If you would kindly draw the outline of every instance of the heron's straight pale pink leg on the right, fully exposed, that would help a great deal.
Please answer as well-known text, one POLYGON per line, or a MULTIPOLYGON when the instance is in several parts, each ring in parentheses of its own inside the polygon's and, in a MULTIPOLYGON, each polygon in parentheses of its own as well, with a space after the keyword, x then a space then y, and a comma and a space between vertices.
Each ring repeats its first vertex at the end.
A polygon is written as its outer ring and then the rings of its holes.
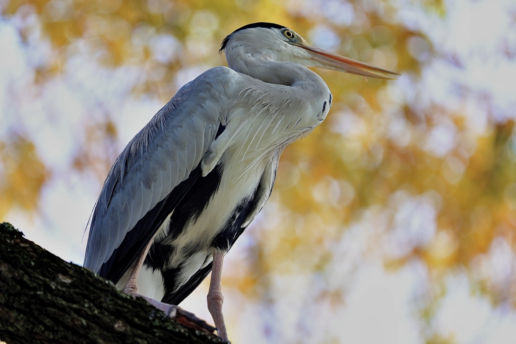
POLYGON ((225 329, 224 316, 222 315, 222 302, 224 296, 220 289, 220 280, 222 277, 222 261, 224 260, 224 254, 220 251, 213 253, 212 263, 212 280, 209 282, 208 291, 208 310, 212 314, 215 327, 217 327, 217 333, 219 337, 228 341, 228 333, 225 329))

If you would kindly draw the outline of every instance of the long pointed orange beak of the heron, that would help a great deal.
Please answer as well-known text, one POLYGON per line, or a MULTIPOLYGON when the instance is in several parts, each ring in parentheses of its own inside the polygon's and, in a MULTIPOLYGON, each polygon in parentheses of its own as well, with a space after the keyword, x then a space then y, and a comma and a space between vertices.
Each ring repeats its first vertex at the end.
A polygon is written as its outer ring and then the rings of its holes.
POLYGON ((316 48, 304 40, 299 43, 291 44, 299 46, 308 51, 311 59, 316 62, 313 64, 313 67, 321 67, 339 72, 387 80, 396 80, 397 76, 400 75, 399 73, 391 72, 389 70, 376 67, 372 64, 360 62, 316 48))

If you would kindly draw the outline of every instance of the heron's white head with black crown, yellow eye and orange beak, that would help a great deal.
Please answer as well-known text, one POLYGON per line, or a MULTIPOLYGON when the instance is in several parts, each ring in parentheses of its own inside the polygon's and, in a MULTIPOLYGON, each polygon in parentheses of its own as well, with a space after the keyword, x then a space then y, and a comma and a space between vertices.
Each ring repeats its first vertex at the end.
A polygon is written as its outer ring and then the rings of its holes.
POLYGON ((312 46, 294 30, 273 23, 253 23, 236 29, 222 41, 222 51, 228 63, 250 54, 380 79, 394 80, 399 75, 312 46))

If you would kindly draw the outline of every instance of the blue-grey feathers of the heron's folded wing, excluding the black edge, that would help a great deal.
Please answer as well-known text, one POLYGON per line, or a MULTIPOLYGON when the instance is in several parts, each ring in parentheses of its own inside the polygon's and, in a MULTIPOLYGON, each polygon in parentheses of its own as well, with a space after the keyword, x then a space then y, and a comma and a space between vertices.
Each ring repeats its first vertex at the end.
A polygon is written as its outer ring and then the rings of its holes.
POLYGON ((127 144, 95 204, 84 266, 99 272, 125 235, 199 165, 224 119, 234 73, 214 68, 183 86, 127 144))

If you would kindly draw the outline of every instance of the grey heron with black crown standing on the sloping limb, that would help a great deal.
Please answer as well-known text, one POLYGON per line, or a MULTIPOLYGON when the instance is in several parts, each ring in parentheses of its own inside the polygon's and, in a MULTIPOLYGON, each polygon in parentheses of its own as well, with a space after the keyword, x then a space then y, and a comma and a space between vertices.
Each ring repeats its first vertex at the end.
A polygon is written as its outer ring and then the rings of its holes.
POLYGON ((84 266, 160 309, 212 271, 208 309, 227 340, 223 256, 267 202, 283 150, 324 121, 332 94, 307 67, 395 79, 397 73, 254 23, 221 45, 229 68, 183 86, 111 167, 89 223, 84 266))

